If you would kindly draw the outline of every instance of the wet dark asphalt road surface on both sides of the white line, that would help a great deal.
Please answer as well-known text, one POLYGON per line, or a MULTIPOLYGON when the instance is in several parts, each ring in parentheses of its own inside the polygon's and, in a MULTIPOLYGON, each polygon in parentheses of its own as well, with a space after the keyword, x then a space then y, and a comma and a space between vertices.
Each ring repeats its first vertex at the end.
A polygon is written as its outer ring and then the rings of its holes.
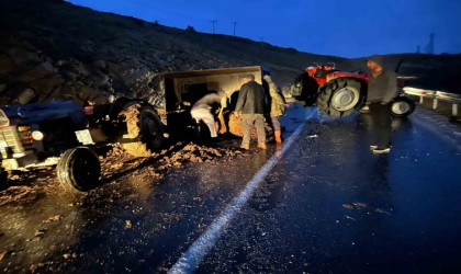
MULTIPOLYGON (((378 156, 367 115, 293 107, 284 138, 303 123, 195 271, 461 272, 459 126, 417 110, 394 122, 392 152, 378 156)), ((3 206, 0 271, 167 272, 274 152, 3 206)))

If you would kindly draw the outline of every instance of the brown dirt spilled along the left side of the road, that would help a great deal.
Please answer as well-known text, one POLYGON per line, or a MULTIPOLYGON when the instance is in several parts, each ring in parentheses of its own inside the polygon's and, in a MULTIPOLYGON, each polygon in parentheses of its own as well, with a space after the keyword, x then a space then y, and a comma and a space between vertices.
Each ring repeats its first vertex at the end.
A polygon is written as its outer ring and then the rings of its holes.
MULTIPOLYGON (((53 167, 10 173, 0 190, 0 269, 54 272, 63 263, 85 258, 85 252, 75 250, 72 244, 86 231, 92 231, 101 218, 120 214, 124 207, 116 205, 131 199, 148 201, 165 176, 188 164, 232 161, 256 152, 240 151, 238 142, 225 140, 217 146, 180 141, 146 158, 132 157, 121 146, 108 147, 97 151, 101 185, 86 193, 63 192, 53 167)), ((150 209, 130 209, 130 215, 122 215, 121 227, 127 230, 138 227, 138 215, 145 210, 150 209)), ((171 224, 179 218, 169 210, 159 215, 171 224)), ((158 226, 150 229, 160 232, 166 229, 158 226)))

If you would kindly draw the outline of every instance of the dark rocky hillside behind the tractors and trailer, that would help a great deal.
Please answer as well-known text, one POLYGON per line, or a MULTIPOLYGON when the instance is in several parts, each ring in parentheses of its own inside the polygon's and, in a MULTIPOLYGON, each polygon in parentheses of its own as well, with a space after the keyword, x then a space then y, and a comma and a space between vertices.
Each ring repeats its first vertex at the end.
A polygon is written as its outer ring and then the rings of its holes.
MULTIPOLYGON (((310 33, 308 35, 315 35, 310 33)), ((105 101, 155 93, 155 76, 176 70, 262 65, 282 87, 313 62, 363 69, 364 59, 301 53, 227 35, 184 31, 97 12, 60 0, 0 2, 0 105, 57 99, 105 101)), ((461 55, 390 55, 415 85, 459 91, 461 55)))

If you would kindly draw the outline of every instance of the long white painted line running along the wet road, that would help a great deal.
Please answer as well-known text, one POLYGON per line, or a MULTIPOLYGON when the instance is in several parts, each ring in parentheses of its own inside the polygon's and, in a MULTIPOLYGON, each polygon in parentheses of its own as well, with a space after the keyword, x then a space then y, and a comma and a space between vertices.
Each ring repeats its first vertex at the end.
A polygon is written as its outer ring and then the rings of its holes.
MULTIPOLYGON (((310 113, 306 119, 310 119, 314 113, 310 113)), ((247 183, 240 194, 235 197, 231 204, 226 206, 224 212, 212 222, 206 231, 196 239, 185 253, 175 263, 168 273, 193 273, 203 258, 210 252, 217 240, 221 238, 224 228, 231 220, 240 212, 248 199, 251 197, 254 191, 259 186, 266 175, 272 170, 277 162, 290 149, 297 136, 304 129, 306 123, 300 125, 296 130, 285 140, 282 149, 273 155, 256 175, 247 183)))

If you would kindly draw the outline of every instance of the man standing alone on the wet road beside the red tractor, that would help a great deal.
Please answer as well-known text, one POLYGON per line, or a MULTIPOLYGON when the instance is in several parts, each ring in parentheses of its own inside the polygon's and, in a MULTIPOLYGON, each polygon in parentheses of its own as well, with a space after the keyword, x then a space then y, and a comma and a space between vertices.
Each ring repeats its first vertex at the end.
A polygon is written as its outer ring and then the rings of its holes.
POLYGON ((367 59, 370 69, 367 102, 372 118, 375 144, 370 146, 374 153, 391 151, 391 101, 397 93, 397 76, 394 71, 383 68, 382 59, 373 55, 367 59))

